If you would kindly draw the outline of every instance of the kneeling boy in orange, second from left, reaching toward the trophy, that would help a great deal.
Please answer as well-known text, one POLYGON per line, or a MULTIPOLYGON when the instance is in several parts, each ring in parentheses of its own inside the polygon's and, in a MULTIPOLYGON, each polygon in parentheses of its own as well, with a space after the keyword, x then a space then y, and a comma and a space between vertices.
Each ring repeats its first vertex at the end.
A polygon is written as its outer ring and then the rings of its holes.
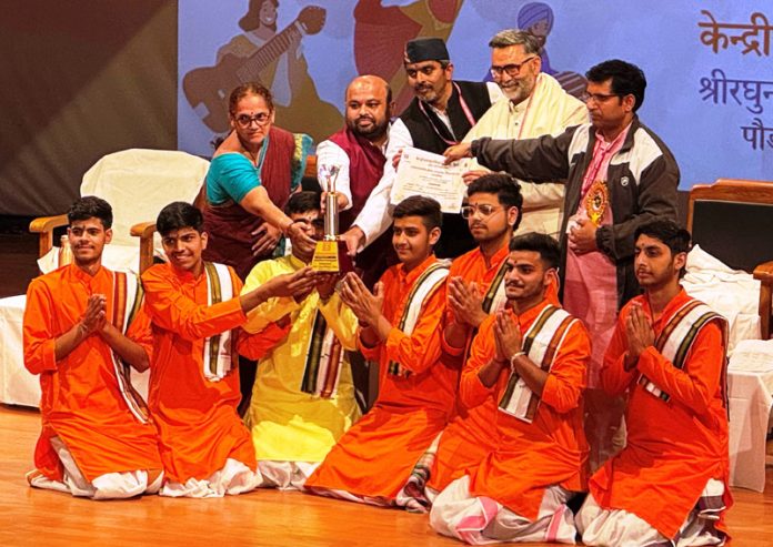
MULTIPOLYGON (((172 497, 219 497, 261 484, 250 432, 237 413, 238 327, 260 303, 313 283, 307 267, 239 296, 234 271, 201 259, 202 224, 192 205, 167 205, 157 227, 169 264, 142 275, 154 335, 149 405, 167 472, 161 495, 172 497)), ((241 344, 250 342, 261 344, 258 337, 241 344)))

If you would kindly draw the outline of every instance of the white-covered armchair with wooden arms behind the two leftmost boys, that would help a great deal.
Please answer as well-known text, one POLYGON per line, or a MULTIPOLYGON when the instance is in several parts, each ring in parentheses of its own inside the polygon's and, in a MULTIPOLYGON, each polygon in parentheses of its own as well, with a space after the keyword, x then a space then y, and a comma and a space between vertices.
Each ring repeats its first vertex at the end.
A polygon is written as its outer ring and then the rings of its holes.
MULTIPOLYGON (((160 255, 160 245, 153 243, 155 223, 141 221, 155 219, 170 202, 192 203, 208 169, 207 160, 184 152, 139 149, 108 154, 89 169, 83 175, 81 195, 98 195, 113 207, 113 239, 104 247, 102 263, 111 270, 134 273, 149 267, 153 255, 160 255), (132 234, 140 237, 139 245, 132 234)), ((30 224, 30 231, 39 234, 38 264, 43 273, 58 267, 53 230, 64 225, 64 214, 39 217, 30 224)), ((24 295, 0 300, 0 403, 38 406, 38 378, 23 366, 24 303, 24 295)), ((132 375, 143 394, 147 376, 132 375)))

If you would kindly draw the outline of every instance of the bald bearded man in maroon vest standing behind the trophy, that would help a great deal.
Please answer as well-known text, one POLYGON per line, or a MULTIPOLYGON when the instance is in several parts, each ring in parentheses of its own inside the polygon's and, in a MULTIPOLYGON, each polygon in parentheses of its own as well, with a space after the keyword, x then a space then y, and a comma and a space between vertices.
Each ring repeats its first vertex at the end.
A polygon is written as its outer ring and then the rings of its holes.
MULTIPOLYGON (((335 179, 341 232, 352 225, 383 175, 393 107, 392 90, 377 75, 352 80, 345 100, 345 128, 317 146, 317 176, 323 190, 329 178, 335 179)), ((357 256, 362 278, 371 288, 396 262, 391 230, 357 256)))

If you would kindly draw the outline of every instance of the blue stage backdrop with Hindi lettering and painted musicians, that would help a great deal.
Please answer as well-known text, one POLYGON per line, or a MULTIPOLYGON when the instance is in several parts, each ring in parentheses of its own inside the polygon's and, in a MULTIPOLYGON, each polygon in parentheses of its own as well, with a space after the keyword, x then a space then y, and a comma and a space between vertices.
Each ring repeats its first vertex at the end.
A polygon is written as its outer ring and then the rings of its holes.
MULTIPOLYGON (((273 6, 272 0, 265 1, 273 6)), ((260 3, 179 3, 181 150, 209 155, 209 143, 217 133, 202 121, 201 108, 194 110, 188 100, 185 74, 214 65, 218 50, 243 34, 239 20, 260 3)), ((388 79, 393 77, 393 83, 402 82, 404 75, 394 70, 393 61, 404 36, 448 37, 454 78, 481 80, 490 64, 489 39, 501 29, 518 27, 521 13, 522 22, 542 19, 543 28, 550 27, 545 50, 554 71, 582 74, 611 58, 631 61, 644 70, 649 84, 640 117, 674 152, 682 170, 682 189, 720 176, 773 178, 770 1, 552 0, 534 6, 521 0, 281 0, 275 9, 278 31, 290 26, 308 6, 327 11, 321 30, 304 36, 300 49, 284 65, 278 61, 269 69, 280 102, 308 109, 307 123, 312 129, 289 129, 314 133, 315 112, 321 111, 315 101, 334 107, 340 114, 344 88, 358 74, 357 59, 363 67, 382 67, 388 79), (521 13, 526 4, 532 6, 521 13), (302 67, 301 72, 313 81, 318 99, 293 105, 295 88, 289 82, 300 80, 285 72, 292 72, 288 64, 303 58, 308 68, 302 67)), ((283 125, 279 113, 277 123, 283 125)), ((325 135, 314 136, 319 140, 325 135)))

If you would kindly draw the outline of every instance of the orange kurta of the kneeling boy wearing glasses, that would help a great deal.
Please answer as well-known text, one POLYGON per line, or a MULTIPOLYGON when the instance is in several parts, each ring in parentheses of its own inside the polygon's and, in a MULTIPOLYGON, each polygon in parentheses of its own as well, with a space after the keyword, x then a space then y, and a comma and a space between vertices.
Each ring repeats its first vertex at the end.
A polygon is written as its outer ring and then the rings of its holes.
MULTIPOLYGON (((509 251, 505 244, 491 257, 491 265, 486 265, 480 247, 475 247, 453 261, 449 278, 460 276, 466 283, 475 283, 481 294, 485 295, 508 255, 509 251)), ((445 325, 453 321, 454 314, 449 308, 445 312, 445 325)), ((472 338, 472 335, 473 333, 470 333, 469 338, 472 338)), ((469 343, 471 340, 468 340, 465 346, 469 343)), ((458 355, 461 367, 464 355, 460 355, 456 348, 444 342, 443 351, 449 355, 458 355)), ((456 416, 440 437, 438 453, 428 482, 429 487, 442 490, 453 479, 471 473, 489 453, 496 448, 496 429, 492 427, 495 414, 496 404, 493 397, 488 397, 483 403, 472 408, 468 408, 459 398, 456 399, 456 416)))

